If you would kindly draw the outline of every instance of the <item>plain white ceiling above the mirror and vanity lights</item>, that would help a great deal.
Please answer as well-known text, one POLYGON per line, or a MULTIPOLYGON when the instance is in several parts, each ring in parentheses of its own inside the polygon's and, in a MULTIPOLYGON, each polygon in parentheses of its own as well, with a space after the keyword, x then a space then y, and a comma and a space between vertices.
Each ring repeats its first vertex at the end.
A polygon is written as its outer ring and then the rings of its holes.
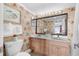
POLYGON ((57 11, 68 7, 75 7, 75 3, 22 3, 25 8, 33 14, 45 13, 47 11, 57 11))

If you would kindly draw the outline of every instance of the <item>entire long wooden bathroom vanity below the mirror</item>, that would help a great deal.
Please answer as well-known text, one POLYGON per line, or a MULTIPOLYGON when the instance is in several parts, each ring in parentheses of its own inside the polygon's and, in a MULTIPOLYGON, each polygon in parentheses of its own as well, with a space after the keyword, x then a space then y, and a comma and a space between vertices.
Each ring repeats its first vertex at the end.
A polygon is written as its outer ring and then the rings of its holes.
POLYGON ((32 53, 47 56, 68 56, 70 55, 69 42, 63 40, 44 39, 30 37, 30 48, 32 53))

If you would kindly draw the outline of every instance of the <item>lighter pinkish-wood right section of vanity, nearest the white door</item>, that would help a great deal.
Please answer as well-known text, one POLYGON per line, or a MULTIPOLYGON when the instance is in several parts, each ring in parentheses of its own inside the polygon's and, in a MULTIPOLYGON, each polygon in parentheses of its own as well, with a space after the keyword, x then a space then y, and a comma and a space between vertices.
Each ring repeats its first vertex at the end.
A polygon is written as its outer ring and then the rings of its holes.
POLYGON ((48 56, 68 56, 70 47, 67 42, 46 40, 45 53, 48 56))

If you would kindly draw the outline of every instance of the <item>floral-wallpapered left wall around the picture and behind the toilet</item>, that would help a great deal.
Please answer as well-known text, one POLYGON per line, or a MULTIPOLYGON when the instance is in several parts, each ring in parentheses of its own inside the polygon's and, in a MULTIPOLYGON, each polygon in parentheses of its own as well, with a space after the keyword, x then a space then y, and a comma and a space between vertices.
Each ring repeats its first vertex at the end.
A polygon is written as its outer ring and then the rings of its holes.
MULTIPOLYGON (((33 15, 30 12, 28 12, 27 10, 25 10, 21 6, 21 4, 5 3, 4 5, 9 6, 13 9, 16 9, 16 10, 20 11, 20 13, 21 13, 21 25, 22 25, 23 34, 21 34, 19 36, 21 36, 22 39, 26 39, 26 41, 28 42, 28 37, 31 34, 31 18, 32 18, 33 15)), ((12 39, 13 39, 13 36, 4 37, 5 41, 10 41, 12 39)))

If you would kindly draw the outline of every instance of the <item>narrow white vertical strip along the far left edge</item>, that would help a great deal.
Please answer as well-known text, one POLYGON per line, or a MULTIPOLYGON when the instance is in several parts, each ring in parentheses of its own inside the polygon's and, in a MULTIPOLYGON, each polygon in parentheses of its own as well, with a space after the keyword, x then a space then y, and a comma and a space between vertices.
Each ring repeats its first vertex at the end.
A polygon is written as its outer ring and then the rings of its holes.
POLYGON ((0 56, 3 55, 3 4, 0 3, 0 56))

